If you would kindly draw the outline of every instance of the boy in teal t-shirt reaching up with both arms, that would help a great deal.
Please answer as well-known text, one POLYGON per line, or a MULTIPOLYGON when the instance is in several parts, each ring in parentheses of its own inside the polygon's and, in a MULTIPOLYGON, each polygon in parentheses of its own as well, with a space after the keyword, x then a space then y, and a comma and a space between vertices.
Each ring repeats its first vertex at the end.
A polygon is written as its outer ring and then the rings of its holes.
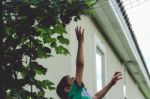
POLYGON ((76 75, 75 78, 69 75, 64 76, 59 82, 56 92, 61 99, 101 99, 118 80, 122 79, 121 72, 115 72, 111 81, 102 90, 91 97, 82 83, 84 69, 84 29, 76 27, 75 32, 78 40, 76 75))

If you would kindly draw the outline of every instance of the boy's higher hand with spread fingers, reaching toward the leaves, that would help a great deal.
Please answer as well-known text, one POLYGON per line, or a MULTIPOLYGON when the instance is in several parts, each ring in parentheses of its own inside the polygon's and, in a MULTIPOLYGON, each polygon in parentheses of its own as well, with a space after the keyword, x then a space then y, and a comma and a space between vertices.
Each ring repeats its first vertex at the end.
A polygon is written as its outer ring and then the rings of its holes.
POLYGON ((84 41, 84 29, 81 29, 81 27, 76 27, 75 28, 76 36, 78 42, 83 42, 84 41))

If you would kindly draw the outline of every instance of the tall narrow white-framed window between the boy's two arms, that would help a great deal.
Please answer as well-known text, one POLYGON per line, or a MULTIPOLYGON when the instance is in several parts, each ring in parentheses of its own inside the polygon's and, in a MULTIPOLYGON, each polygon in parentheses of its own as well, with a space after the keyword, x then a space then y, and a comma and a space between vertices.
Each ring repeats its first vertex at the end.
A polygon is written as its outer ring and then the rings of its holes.
POLYGON ((95 35, 95 40, 95 88, 99 91, 105 83, 105 47, 98 35, 95 35))

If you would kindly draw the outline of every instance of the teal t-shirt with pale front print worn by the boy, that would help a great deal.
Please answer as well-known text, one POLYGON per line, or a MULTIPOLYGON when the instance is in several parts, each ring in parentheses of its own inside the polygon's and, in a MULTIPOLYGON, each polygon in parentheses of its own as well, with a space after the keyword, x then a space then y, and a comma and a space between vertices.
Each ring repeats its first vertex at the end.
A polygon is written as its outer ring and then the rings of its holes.
POLYGON ((84 85, 79 86, 76 81, 74 81, 68 97, 68 99, 92 99, 84 85))

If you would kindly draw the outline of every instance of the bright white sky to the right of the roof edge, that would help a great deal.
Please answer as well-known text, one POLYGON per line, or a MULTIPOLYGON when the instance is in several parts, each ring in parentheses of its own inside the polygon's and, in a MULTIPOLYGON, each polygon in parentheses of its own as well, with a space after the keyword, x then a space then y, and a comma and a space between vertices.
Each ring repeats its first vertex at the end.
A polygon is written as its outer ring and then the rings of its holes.
POLYGON ((150 0, 141 2, 139 5, 133 7, 126 7, 132 29, 150 73, 150 0))

